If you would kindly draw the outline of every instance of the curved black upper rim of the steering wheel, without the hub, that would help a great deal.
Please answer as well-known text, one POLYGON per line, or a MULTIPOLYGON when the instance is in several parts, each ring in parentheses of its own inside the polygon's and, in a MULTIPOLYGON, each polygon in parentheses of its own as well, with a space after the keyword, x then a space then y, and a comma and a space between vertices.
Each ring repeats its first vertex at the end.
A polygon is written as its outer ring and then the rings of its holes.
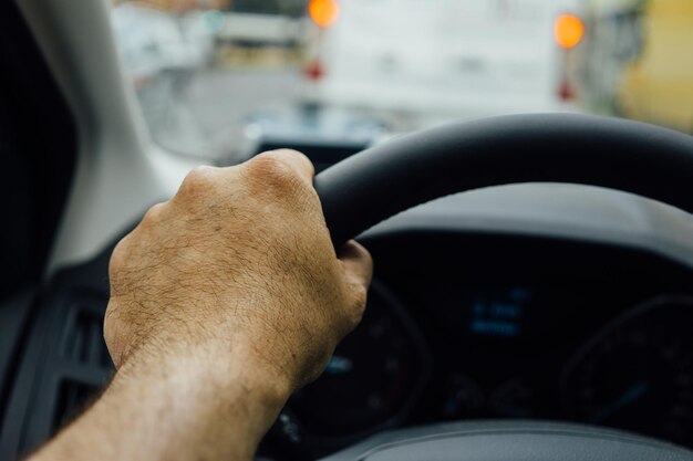
POLYGON ((693 212, 693 136, 619 118, 508 115, 403 136, 316 177, 332 241, 455 192, 519 182, 622 190, 693 212))

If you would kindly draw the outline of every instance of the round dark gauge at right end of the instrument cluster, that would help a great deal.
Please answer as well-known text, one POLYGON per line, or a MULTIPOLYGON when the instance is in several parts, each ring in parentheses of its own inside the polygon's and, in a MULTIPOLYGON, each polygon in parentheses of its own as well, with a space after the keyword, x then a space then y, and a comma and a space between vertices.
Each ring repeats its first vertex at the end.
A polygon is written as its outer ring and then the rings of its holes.
POLYGON ((693 444, 693 301, 660 298, 618 318, 568 365, 568 416, 693 444))

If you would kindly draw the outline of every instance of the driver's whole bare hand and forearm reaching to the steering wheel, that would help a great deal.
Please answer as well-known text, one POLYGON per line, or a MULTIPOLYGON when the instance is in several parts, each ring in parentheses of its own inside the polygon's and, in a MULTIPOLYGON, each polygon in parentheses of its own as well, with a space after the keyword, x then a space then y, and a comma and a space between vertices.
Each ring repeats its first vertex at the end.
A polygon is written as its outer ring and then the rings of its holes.
POLYGON ((301 154, 192 171, 111 259, 118 371, 38 458, 249 459, 360 321, 371 260, 334 252, 301 154))

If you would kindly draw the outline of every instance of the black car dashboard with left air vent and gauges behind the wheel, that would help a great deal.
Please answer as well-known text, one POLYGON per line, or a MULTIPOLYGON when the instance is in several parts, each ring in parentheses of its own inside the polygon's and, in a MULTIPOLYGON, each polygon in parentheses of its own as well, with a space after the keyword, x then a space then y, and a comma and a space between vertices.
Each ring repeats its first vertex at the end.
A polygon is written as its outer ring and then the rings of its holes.
MULTIPOLYGON (((523 207, 550 208, 529 187, 483 192, 485 205, 454 196, 365 232, 375 279, 363 321, 323 376, 289 400, 260 454, 314 459, 385 429, 478 419, 579 421, 693 446, 693 274, 681 240, 658 230, 662 216, 645 219, 643 210, 671 213, 678 224, 664 227, 679 234, 690 220, 633 197, 536 187, 567 217, 561 224, 551 211, 545 233, 507 223, 529 212, 523 207), (511 210, 490 205, 497 193, 511 210), (576 214, 561 193, 599 196, 602 211, 640 208, 631 221, 602 212, 599 226, 631 232, 609 238, 594 227, 598 240, 587 229, 599 220, 576 214), (582 238, 570 234, 576 229, 582 238)), ((2 453, 41 443, 110 379, 102 338, 110 253, 51 281, 17 366, 2 453)))

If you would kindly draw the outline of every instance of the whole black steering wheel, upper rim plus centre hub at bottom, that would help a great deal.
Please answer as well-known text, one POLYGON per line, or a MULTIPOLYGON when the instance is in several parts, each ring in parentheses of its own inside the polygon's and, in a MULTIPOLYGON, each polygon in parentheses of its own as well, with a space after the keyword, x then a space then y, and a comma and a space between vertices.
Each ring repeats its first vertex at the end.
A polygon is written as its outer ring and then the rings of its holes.
MULTIPOLYGON (((517 182, 571 182, 637 193, 693 212, 693 137, 575 114, 452 124, 364 150, 316 177, 337 247, 377 222, 446 195, 517 182)), ((550 422, 467 422, 395 431, 331 461, 693 460, 625 432, 550 422)))

